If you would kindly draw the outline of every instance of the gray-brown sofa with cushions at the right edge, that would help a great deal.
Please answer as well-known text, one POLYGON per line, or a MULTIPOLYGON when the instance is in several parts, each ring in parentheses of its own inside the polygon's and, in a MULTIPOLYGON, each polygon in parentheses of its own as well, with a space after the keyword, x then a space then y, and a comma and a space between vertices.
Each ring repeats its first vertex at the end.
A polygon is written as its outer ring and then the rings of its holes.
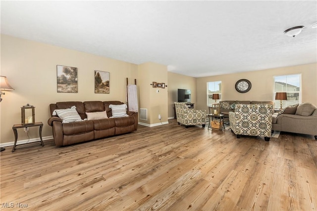
POLYGON ((317 107, 303 103, 272 115, 272 130, 314 135, 317 140, 317 107))

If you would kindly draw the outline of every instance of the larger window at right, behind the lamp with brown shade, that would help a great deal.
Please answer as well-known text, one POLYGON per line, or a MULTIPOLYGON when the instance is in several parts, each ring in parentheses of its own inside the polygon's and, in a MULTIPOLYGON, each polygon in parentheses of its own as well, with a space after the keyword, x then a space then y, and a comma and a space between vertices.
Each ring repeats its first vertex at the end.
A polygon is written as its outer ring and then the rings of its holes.
POLYGON ((283 108, 302 103, 301 74, 274 76, 273 102, 279 108, 280 101, 275 100, 276 92, 286 92, 287 101, 282 101, 283 108))

